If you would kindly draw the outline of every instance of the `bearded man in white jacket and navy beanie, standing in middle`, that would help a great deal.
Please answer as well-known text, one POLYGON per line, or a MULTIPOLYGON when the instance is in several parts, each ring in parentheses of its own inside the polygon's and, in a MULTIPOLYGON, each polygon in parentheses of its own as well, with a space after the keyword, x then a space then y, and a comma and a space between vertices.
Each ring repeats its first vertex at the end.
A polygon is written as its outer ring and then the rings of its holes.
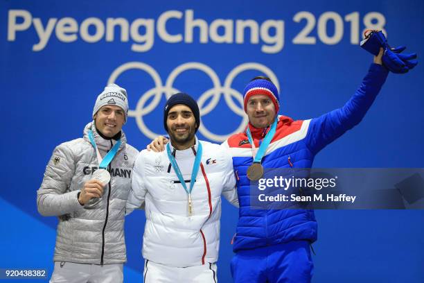
POLYGON ((175 94, 164 109, 166 150, 141 151, 127 214, 145 205, 144 282, 217 282, 221 194, 238 206, 231 156, 199 141, 196 101, 175 94))

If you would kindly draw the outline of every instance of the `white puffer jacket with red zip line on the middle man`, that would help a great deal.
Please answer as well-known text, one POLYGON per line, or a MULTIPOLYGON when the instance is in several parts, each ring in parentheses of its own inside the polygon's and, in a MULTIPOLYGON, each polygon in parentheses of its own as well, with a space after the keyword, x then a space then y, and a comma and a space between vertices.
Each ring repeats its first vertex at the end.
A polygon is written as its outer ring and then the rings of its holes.
MULTIPOLYGON (((202 165, 191 192, 191 216, 188 215, 188 195, 170 166, 167 152, 144 150, 136 159, 127 214, 145 202, 145 259, 177 267, 218 260, 221 194, 238 206, 236 180, 226 149, 207 141, 200 142, 202 165)), ((196 139, 196 151, 197 144, 196 139)), ((173 146, 170 148, 174 150, 173 146)), ((195 160, 192 148, 176 151, 175 160, 189 188, 195 160)))

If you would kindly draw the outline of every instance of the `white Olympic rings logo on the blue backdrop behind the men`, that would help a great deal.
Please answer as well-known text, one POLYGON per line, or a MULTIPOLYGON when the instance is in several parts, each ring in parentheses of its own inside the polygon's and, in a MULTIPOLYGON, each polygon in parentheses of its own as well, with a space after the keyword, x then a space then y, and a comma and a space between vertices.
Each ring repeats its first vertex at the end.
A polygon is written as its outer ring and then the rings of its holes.
MULTIPOLYGON (((136 119, 136 124, 137 126, 139 126, 141 132, 143 132, 143 134, 150 139, 154 139, 159 134, 153 132, 148 128, 148 126, 145 125, 143 121, 143 116, 149 114, 157 108, 157 105, 159 105, 159 102, 161 101, 162 94, 165 94, 166 99, 168 99, 171 95, 180 92, 179 89, 175 89, 173 87, 173 83, 177 76, 179 76, 179 74, 182 74, 184 71, 191 69, 203 71, 209 76, 209 78, 211 78, 211 81, 213 83, 213 87, 211 89, 206 90, 206 92, 204 92, 197 100, 197 104, 199 105, 200 110, 200 117, 209 114, 216 107, 216 105, 218 105, 221 94, 223 94, 225 102, 227 103, 229 109, 242 118, 238 128, 236 128, 236 130, 234 130, 233 132, 230 132, 228 135, 214 134, 206 128, 204 123, 200 123, 200 133, 202 133, 204 137, 212 141, 224 141, 230 135, 242 132, 247 124, 247 115, 245 114, 245 110, 242 108, 243 96, 240 92, 231 87, 234 78, 236 78, 238 74, 240 74, 242 71, 247 70, 260 71, 262 74, 265 74, 265 76, 269 77, 275 83, 277 89, 280 88, 279 81, 277 80, 274 72, 271 71, 271 69, 269 69, 268 67, 256 62, 247 62, 238 65, 236 68, 231 70, 224 81, 224 85, 221 85, 218 75, 215 73, 215 71, 213 71, 213 69, 211 69, 211 67, 204 65, 200 62, 186 62, 182 65, 179 65, 169 74, 165 85, 162 84, 161 77, 159 76, 157 71, 150 65, 147 65, 143 62, 127 62, 121 65, 120 67, 116 68, 112 72, 107 83, 114 83, 117 78, 121 76, 121 74, 130 69, 145 71, 153 78, 154 81, 154 87, 152 89, 149 89, 144 94, 141 94, 135 110, 128 111, 128 116, 134 117, 136 119), (154 98, 152 99, 151 103, 149 105, 146 105, 146 102, 149 101, 149 98, 151 98, 152 96, 154 96, 154 98), (231 97, 235 98, 236 101, 240 103, 241 108, 239 105, 236 105, 236 103, 234 103, 231 97), (211 98, 209 105, 204 105, 209 98, 211 98)), ((184 92, 184 89, 182 90, 182 92, 184 92)))

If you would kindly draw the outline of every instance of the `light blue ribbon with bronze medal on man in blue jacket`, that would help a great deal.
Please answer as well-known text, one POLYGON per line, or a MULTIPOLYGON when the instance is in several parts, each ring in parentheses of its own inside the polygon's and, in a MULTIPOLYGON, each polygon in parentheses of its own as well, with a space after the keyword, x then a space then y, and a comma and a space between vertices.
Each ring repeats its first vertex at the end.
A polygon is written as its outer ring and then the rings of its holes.
MULTIPOLYGON (((265 155, 265 152, 267 151, 267 148, 271 144, 272 138, 275 135, 277 119, 278 117, 274 120, 274 123, 272 123, 272 126, 267 132, 267 135, 265 135, 265 138, 260 143, 258 152, 254 156, 253 164, 251 164, 251 166, 249 166, 249 169, 247 169, 247 178, 249 178, 249 180, 256 181, 262 178, 263 176, 263 167, 262 165, 260 165, 260 162, 262 162, 263 156, 265 155)), ((249 126, 247 126, 246 134, 251 144, 251 148, 254 149, 255 144, 253 138, 251 137, 249 126)))

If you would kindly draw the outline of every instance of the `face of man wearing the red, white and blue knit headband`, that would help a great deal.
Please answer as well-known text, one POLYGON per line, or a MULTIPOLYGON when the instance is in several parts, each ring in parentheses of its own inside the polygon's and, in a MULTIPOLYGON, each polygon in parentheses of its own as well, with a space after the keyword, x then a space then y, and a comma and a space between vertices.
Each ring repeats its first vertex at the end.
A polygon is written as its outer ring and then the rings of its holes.
POLYGON ((275 106, 265 94, 256 94, 249 98, 246 107, 249 122, 255 128, 266 128, 275 119, 275 106))

